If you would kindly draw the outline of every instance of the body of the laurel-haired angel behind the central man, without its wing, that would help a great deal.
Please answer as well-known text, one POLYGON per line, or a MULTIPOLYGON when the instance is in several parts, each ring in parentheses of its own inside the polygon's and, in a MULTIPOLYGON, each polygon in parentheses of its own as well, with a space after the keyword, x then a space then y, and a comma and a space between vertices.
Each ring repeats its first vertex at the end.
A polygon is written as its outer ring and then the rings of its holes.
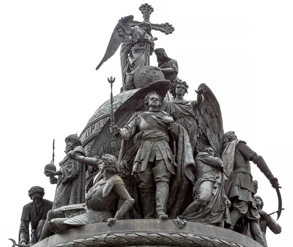
POLYGON ((192 151, 197 148, 197 117, 196 108, 204 101, 205 87, 195 90, 197 100, 186 100, 183 96, 188 93, 188 85, 185 81, 175 80, 171 85, 170 93, 174 97, 172 101, 165 101, 162 111, 172 116, 176 123, 180 124, 188 133, 192 151))

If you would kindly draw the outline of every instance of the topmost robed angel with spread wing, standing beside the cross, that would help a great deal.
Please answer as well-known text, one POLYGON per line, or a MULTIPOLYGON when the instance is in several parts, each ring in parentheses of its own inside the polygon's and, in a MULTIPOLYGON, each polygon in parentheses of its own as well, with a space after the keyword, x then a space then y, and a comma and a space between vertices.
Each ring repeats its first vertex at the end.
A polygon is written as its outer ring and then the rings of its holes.
POLYGON ((118 21, 110 38, 105 56, 97 66, 114 55, 121 43, 121 68, 123 71, 124 90, 135 89, 134 74, 142 67, 149 64, 149 56, 154 51, 154 40, 151 35, 151 24, 142 22, 138 26, 130 27, 133 16, 126 16, 118 21))

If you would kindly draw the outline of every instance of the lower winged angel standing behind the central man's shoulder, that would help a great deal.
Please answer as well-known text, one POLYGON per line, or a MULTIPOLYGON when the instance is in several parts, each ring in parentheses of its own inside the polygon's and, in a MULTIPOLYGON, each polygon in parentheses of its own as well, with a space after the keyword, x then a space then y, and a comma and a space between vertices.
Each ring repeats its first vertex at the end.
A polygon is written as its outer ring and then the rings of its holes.
POLYGON ((215 156, 220 157, 224 130, 220 105, 209 87, 199 85, 196 100, 186 100, 188 84, 180 79, 175 80, 170 89, 174 99, 165 101, 161 110, 172 116, 176 123, 182 125, 189 136, 194 157, 203 152, 206 146, 215 150, 215 156))

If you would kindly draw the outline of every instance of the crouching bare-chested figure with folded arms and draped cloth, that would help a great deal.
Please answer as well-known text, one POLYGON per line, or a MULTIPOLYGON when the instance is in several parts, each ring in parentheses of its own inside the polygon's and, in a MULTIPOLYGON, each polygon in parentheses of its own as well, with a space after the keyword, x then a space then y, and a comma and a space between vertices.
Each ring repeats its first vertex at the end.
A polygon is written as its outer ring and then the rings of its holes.
POLYGON ((195 158, 196 183, 193 187, 194 202, 183 212, 181 219, 196 220, 216 226, 230 223, 231 203, 225 195, 224 183, 227 180, 223 161, 215 157, 208 146, 195 158))

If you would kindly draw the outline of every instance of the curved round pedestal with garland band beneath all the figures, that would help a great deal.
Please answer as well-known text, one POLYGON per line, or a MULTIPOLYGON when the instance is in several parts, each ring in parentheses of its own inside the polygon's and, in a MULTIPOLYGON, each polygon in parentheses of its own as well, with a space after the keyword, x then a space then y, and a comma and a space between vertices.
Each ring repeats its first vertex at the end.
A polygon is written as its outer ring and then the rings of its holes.
POLYGON ((172 220, 119 220, 113 226, 96 223, 73 228, 44 239, 34 247, 261 247, 240 233, 188 222, 178 228, 172 220))

